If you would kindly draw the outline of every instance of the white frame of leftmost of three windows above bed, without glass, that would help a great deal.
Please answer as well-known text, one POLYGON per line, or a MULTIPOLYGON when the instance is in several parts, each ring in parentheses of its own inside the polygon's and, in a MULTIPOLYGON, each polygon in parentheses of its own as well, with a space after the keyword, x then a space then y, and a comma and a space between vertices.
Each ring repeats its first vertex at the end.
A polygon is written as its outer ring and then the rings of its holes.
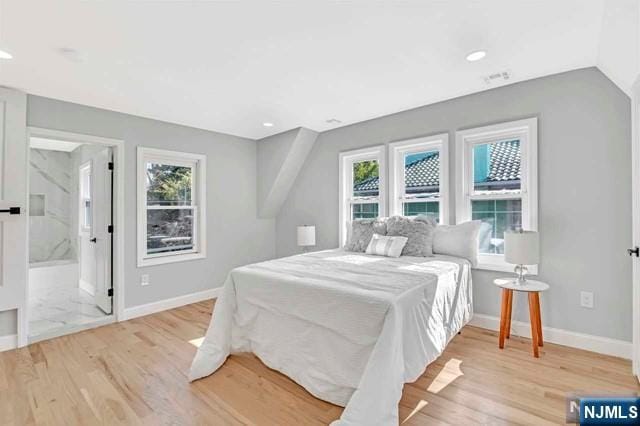
POLYGON ((338 241, 340 247, 346 244, 347 223, 351 219, 352 204, 366 204, 377 199, 378 217, 386 216, 387 194, 386 194, 386 149, 385 145, 344 151, 338 155, 339 170, 339 224, 338 241), (370 198, 353 198, 353 164, 361 161, 376 160, 378 162, 378 196, 370 198))

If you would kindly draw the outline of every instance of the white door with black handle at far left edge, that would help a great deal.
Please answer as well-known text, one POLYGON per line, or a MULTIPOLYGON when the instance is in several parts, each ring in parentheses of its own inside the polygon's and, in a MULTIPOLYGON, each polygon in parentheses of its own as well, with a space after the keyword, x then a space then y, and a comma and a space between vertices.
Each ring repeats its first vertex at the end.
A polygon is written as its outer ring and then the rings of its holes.
POLYGON ((27 288, 27 97, 0 87, 0 312, 17 309, 18 344, 27 288))

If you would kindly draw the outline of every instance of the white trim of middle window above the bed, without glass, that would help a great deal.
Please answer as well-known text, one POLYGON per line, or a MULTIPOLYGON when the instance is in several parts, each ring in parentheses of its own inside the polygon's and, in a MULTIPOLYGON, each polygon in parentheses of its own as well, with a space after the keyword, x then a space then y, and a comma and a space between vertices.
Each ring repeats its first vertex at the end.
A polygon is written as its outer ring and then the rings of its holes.
POLYGON ((403 216, 402 204, 405 202, 423 202, 425 200, 405 200, 404 194, 404 156, 408 153, 438 150, 440 152, 440 223, 449 224, 449 134, 441 133, 391 142, 389 144, 389 212, 390 215, 403 216))

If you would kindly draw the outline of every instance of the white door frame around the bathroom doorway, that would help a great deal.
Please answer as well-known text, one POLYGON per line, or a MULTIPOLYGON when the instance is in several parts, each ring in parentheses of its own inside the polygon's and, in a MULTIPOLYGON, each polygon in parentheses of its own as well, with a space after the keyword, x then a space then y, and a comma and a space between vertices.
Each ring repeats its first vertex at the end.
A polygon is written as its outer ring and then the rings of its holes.
MULTIPOLYGON (((87 135, 82 133, 72 133, 60 130, 45 129, 41 127, 27 127, 27 164, 29 164, 30 139, 31 137, 41 137, 46 139, 56 139, 69 142, 89 143, 93 145, 109 146, 113 149, 113 320, 124 319, 124 140, 105 138, 102 136, 87 135)), ((27 188, 29 188, 29 174, 27 173, 27 188)), ((29 197, 27 197, 27 207, 29 211, 29 197)), ((29 226, 27 224, 26 241, 29 241, 29 226)), ((29 273, 28 259, 25 262, 27 274, 29 273)), ((28 275, 27 275, 28 276, 28 275)), ((18 347, 24 347, 29 341, 29 280, 24 289, 24 312, 18 318, 18 347)))

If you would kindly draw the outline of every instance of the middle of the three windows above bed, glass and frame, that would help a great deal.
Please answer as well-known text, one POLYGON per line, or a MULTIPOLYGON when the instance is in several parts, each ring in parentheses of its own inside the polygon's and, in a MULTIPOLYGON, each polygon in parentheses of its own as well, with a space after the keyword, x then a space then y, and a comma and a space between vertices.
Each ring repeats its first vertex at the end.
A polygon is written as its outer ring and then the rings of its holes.
POLYGON ((389 145, 391 214, 448 222, 447 134, 389 145))

